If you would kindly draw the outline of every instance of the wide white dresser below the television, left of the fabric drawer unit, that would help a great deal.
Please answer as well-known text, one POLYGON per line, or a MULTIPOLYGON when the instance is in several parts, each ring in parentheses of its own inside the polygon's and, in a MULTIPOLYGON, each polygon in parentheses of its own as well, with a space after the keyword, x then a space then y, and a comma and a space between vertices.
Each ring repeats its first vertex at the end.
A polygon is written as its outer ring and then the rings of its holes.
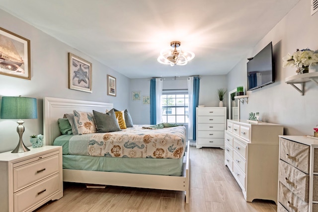
POLYGON ((242 189, 246 202, 277 203, 279 135, 283 126, 228 120, 225 131, 225 165, 242 189))

